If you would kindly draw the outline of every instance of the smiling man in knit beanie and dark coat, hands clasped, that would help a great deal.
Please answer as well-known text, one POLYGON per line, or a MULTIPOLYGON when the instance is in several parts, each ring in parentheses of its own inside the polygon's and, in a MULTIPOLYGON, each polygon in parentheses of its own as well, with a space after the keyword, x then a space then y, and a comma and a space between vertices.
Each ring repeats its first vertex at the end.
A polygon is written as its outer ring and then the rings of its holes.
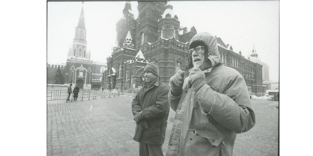
POLYGON ((136 121, 134 140, 139 142, 139 156, 163 156, 169 87, 161 82, 155 62, 144 68, 145 82, 131 103, 136 121))

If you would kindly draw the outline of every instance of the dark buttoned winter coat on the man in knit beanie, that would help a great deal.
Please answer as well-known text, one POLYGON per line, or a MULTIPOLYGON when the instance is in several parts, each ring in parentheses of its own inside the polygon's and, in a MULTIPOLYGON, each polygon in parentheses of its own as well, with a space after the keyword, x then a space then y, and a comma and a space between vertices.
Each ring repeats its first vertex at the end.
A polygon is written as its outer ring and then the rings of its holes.
POLYGON ((170 110, 169 87, 161 82, 160 77, 150 86, 147 85, 149 84, 144 82, 143 88, 131 103, 133 115, 142 111, 142 121, 136 124, 134 140, 146 144, 163 144, 170 110))

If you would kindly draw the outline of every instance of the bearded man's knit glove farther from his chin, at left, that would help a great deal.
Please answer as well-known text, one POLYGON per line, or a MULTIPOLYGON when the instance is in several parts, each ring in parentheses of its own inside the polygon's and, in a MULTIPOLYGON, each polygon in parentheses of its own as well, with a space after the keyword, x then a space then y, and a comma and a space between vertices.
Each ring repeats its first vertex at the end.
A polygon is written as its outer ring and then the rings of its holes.
POLYGON ((182 85, 184 84, 185 71, 179 70, 177 73, 170 78, 171 93, 174 96, 182 94, 182 85))

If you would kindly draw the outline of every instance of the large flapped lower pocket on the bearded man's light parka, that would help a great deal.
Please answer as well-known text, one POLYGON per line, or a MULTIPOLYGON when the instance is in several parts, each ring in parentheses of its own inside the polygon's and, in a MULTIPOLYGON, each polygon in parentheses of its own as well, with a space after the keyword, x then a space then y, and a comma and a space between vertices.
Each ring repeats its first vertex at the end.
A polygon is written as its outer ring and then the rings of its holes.
POLYGON ((186 137, 186 144, 182 155, 218 155, 220 145, 213 146, 207 138, 203 138, 194 134, 194 130, 189 130, 186 137))

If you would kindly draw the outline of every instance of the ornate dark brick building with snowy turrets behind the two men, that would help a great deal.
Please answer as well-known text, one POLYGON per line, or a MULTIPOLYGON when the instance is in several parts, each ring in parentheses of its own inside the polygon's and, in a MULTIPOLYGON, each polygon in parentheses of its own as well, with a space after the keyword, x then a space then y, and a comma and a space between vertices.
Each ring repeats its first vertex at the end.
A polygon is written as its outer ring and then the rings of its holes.
MULTIPOLYGON (((165 84, 178 70, 188 73, 189 41, 197 34, 196 28, 181 26, 179 16, 166 1, 139 1, 137 9, 135 19, 131 4, 126 2, 124 17, 116 23, 116 45, 107 58, 104 77, 106 89, 140 88, 143 68, 151 61, 158 64, 165 84)), ((262 64, 245 59, 240 51, 236 53, 221 38, 216 39, 222 62, 244 76, 254 95, 264 95, 262 64)))

